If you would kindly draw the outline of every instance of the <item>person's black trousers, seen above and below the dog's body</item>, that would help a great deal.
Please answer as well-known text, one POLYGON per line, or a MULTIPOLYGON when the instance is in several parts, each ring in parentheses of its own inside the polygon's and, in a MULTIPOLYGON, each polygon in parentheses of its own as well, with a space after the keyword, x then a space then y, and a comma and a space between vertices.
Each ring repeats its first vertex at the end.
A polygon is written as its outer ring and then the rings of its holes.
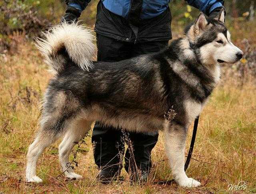
MULTIPOLYGON (((97 34, 97 47, 98 61, 114 62, 160 51, 168 47, 168 40, 133 44, 97 34)), ((149 170, 151 151, 157 140, 158 134, 127 133, 114 129, 112 126, 103 127, 97 121, 92 133, 95 163, 99 168, 111 167, 116 171, 120 170, 124 155, 124 142, 126 142, 128 144, 125 154, 126 171, 135 169, 134 161, 140 170, 149 170)))

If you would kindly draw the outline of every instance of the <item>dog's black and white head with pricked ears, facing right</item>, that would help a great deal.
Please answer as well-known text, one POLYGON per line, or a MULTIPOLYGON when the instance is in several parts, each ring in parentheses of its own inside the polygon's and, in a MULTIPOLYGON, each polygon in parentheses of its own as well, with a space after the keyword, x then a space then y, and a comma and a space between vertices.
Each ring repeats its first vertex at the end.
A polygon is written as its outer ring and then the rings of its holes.
POLYGON ((190 46, 201 63, 236 63, 242 59, 243 52, 232 44, 224 21, 224 10, 214 19, 207 18, 201 12, 194 24, 186 30, 190 46))

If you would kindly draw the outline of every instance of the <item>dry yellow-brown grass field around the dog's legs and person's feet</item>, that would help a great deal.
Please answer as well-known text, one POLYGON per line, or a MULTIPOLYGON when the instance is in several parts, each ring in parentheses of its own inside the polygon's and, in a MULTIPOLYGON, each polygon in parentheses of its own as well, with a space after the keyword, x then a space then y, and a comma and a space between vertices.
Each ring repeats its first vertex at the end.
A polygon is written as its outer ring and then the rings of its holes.
POLYGON ((38 162, 43 183, 26 184, 25 155, 37 129, 38 103, 51 75, 31 44, 22 43, 18 50, 16 55, 0 59, 0 192, 225 193, 229 192, 228 184, 240 180, 246 182, 247 192, 256 192, 256 86, 246 83, 238 87, 233 79, 218 86, 200 117, 194 159, 187 172, 199 179, 202 187, 184 189, 175 183, 158 184, 172 178, 161 135, 152 153, 152 176, 144 185, 130 185, 126 172, 122 172, 124 181, 108 185, 96 182, 90 137, 86 138, 88 146, 83 145, 78 153, 76 171, 84 176, 83 180, 56 178, 61 172, 55 144, 38 162))

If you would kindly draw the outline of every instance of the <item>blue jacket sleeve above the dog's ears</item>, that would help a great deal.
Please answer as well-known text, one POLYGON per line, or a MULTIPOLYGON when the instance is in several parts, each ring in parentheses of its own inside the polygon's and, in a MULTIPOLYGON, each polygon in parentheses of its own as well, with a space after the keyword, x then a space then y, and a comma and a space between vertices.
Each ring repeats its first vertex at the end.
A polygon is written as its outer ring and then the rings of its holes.
POLYGON ((206 15, 210 15, 210 13, 216 8, 220 8, 224 6, 224 0, 186 0, 189 5, 198 8, 201 12, 204 12, 206 15))

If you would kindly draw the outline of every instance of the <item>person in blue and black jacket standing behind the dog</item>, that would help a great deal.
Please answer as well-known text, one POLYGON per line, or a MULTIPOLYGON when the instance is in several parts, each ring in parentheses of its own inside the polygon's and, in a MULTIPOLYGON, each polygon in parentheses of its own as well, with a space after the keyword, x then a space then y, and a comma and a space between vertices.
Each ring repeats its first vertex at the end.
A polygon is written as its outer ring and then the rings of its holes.
MULTIPOLYGON (((212 18, 224 8, 224 0, 186 1, 212 18)), ((66 0, 66 14, 62 22, 77 21, 89 2, 66 0)), ((98 61, 121 61, 167 48, 168 41, 172 39, 169 3, 170 0, 100 0, 94 28, 98 61)), ((125 169, 132 174, 132 180, 147 180, 151 168, 150 155, 158 134, 127 134, 96 121, 92 143, 95 145, 94 160, 100 169, 100 180, 111 180, 120 175, 120 156, 124 155, 126 135, 130 143, 125 153, 125 169)))

